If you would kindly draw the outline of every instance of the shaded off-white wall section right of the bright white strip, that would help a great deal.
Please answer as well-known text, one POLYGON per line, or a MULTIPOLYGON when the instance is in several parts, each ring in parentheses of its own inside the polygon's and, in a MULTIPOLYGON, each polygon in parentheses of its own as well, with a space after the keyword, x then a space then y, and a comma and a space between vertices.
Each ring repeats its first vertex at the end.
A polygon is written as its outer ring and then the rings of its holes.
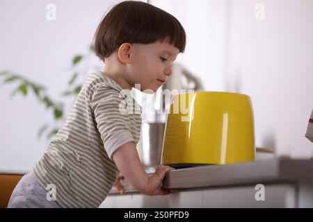
POLYGON ((309 157, 304 137, 313 108, 313 1, 232 1, 227 90, 250 94, 257 143, 280 155, 309 157))

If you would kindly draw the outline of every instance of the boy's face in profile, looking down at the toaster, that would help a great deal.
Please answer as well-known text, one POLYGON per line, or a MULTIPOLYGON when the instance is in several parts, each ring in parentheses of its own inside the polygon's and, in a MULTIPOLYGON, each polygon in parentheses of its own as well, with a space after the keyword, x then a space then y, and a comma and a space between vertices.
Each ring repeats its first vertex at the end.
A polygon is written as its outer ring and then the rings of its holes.
POLYGON ((132 84, 141 84, 141 91, 156 92, 172 74, 172 62, 178 53, 179 49, 168 41, 132 44, 129 63, 132 84))

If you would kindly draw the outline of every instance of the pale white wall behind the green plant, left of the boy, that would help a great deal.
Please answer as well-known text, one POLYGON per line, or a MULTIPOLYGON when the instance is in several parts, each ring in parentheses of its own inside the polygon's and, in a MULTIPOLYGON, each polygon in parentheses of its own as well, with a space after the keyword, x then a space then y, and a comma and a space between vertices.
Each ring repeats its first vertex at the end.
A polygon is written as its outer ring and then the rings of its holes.
MULTIPOLYGON (((9 69, 47 86, 48 94, 65 103, 68 112, 74 98, 60 96, 72 76, 73 56, 87 53, 104 12, 116 0, 0 1, 0 70, 9 69), (49 3, 56 5, 56 20, 47 20, 49 3)), ((86 70, 102 62, 95 57, 83 63, 86 70)), ((83 78, 83 76, 81 76, 83 78)), ((32 92, 26 99, 10 92, 16 84, 0 83, 0 171, 26 172, 39 160, 49 140, 38 139, 39 128, 53 123, 50 112, 32 92)), ((66 114, 65 114, 66 115, 66 114)))

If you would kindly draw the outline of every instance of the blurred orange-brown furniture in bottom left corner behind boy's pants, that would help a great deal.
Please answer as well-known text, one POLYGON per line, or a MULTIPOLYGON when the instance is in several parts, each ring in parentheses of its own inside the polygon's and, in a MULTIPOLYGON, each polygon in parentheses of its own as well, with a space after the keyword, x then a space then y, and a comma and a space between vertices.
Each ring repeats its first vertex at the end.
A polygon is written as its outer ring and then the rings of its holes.
POLYGON ((0 208, 6 208, 13 189, 21 180, 22 174, 0 173, 0 208))

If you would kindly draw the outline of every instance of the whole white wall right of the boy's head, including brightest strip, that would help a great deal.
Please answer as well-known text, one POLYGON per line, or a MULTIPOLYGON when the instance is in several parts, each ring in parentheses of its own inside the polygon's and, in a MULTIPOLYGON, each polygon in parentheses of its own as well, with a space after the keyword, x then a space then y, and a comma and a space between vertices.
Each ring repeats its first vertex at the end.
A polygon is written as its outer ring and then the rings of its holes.
POLYGON ((251 97, 256 146, 308 158, 304 137, 313 108, 313 1, 150 1, 186 29, 186 53, 177 58, 208 91, 251 97), (255 19, 255 6, 265 20, 255 19))

